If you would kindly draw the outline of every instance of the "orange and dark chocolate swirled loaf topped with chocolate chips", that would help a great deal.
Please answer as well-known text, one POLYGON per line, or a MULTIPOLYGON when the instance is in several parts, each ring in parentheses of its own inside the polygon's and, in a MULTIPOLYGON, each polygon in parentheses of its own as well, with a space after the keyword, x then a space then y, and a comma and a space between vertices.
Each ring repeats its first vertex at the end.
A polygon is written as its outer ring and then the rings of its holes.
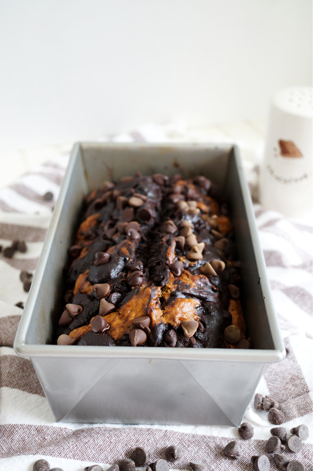
POLYGON ((105 181, 69 258, 58 345, 250 348, 228 206, 203 176, 105 181))

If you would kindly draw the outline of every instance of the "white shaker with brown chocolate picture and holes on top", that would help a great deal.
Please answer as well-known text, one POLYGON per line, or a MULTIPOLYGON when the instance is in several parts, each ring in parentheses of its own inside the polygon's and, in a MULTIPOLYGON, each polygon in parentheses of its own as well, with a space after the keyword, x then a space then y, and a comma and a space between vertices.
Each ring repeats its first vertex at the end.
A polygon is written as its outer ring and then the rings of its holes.
POLYGON ((311 87, 274 95, 259 182, 260 203, 267 209, 293 217, 312 211, 312 126, 311 87))

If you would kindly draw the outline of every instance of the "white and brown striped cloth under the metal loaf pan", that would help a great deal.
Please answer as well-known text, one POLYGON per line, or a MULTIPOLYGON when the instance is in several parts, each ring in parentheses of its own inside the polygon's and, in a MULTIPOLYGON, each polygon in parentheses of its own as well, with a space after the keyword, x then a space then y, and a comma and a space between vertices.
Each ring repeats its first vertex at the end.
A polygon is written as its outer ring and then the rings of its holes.
MULTIPOLYGON (((144 140, 139 133, 129 136, 144 140)), ((27 298, 20 271, 36 268, 68 157, 60 155, 0 190, 0 244, 6 247, 23 239, 27 245, 27 252, 16 252, 12 259, 0 255, 0 470, 31 471, 39 458, 64 471, 82 471, 95 463, 106 469, 129 457, 135 446, 149 449, 152 462, 164 457, 170 444, 183 449, 172 469, 188 469, 189 461, 195 460, 206 463, 208 471, 252 470, 250 457, 265 453, 272 427, 267 413, 253 405, 244 421, 254 427, 254 436, 246 441, 232 427, 56 423, 30 360, 14 353, 22 312, 14 305, 27 298), (47 191, 54 201, 43 200, 47 191), (232 439, 240 442, 238 461, 222 453, 232 439)), ((312 470, 312 225, 257 204, 255 215, 287 350, 281 363, 267 365, 257 392, 280 402, 288 432, 302 423, 309 427, 301 452, 284 454, 312 470)), ((269 458, 271 469, 276 469, 273 456, 269 458)))

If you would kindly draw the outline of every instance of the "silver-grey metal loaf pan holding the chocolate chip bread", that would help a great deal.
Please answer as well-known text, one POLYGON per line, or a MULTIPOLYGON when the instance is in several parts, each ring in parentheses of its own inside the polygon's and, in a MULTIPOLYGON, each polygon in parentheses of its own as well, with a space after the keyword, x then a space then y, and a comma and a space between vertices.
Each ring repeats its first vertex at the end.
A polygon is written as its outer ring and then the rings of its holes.
POLYGON ((56 421, 239 426, 266 363, 281 361, 263 253, 236 146, 76 144, 28 300, 15 351, 30 357, 56 421), (84 196, 103 180, 199 173, 222 185, 231 206, 241 300, 254 349, 52 345, 63 305, 63 267, 84 196))

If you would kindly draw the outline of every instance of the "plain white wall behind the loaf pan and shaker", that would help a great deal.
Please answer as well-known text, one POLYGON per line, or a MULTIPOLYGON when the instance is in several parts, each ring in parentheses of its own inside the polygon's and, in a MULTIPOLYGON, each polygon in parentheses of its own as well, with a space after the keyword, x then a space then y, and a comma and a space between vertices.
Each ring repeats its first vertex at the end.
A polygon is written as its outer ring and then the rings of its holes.
POLYGON ((0 0, 1 150, 266 118, 311 82, 311 0, 0 0))

